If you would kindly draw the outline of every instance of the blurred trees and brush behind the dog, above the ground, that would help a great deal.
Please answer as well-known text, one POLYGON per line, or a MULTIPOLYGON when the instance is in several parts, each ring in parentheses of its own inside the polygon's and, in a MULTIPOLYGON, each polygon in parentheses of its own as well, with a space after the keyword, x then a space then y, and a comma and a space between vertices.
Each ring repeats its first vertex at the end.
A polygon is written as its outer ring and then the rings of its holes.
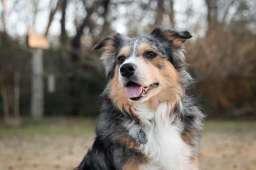
POLYGON ((44 35, 44 116, 96 116, 106 78, 92 51, 114 32, 130 37, 157 25, 189 30, 188 69, 198 80, 196 93, 209 117, 256 118, 255 0, 1 0, 0 117, 4 95, 14 112, 14 75, 19 74, 20 115, 30 116, 31 32, 44 35), (47 76, 55 91, 47 91, 47 76), (3 90, 4 89, 4 90, 3 90))

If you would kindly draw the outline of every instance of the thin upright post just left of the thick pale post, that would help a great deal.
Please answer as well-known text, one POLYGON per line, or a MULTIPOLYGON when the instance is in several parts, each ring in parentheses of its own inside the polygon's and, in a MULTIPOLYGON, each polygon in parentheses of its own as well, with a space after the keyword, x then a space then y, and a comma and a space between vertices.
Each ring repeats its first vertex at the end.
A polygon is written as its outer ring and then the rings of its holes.
POLYGON ((20 85, 19 73, 14 73, 14 117, 20 117, 20 85))

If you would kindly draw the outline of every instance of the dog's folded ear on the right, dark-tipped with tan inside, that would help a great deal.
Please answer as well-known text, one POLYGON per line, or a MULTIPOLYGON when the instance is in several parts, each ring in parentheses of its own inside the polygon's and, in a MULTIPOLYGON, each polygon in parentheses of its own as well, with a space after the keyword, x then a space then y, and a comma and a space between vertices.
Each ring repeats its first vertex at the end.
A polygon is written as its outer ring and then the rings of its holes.
POLYGON ((179 48, 183 43, 192 37, 188 31, 176 31, 167 26, 156 27, 149 35, 165 38, 168 41, 171 41, 174 47, 179 48))

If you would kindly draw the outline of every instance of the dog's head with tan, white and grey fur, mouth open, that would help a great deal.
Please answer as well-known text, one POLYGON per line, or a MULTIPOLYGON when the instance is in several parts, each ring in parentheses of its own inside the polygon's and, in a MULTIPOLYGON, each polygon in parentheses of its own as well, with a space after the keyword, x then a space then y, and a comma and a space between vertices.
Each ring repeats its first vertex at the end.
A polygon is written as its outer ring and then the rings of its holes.
POLYGON ((182 69, 183 43, 191 37, 188 31, 160 26, 141 37, 116 33, 102 39, 93 50, 107 49, 101 60, 110 77, 109 97, 125 109, 134 103, 153 107, 163 101, 180 100, 188 76, 182 69))

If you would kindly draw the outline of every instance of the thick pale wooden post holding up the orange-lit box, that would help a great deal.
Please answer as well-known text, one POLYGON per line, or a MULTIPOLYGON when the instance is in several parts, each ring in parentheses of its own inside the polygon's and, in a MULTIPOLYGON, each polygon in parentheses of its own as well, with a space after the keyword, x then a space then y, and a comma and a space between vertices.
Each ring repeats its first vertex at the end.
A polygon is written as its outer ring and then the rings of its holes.
POLYGON ((34 121, 43 116, 43 49, 35 49, 32 56, 31 115, 34 121))

